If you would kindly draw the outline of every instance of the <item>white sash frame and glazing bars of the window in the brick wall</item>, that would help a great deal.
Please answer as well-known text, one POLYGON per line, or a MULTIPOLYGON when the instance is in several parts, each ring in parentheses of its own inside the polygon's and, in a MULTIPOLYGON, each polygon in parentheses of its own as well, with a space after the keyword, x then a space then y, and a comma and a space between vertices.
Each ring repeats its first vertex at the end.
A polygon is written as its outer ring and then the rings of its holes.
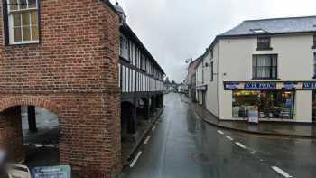
MULTIPOLYGON (((18 0, 20 3, 20 0, 18 0)), ((29 8, 29 0, 26 0, 27 3, 27 7, 26 9, 18 9, 18 10, 10 10, 10 0, 6 0, 7 5, 7 18, 8 18, 8 30, 9 30, 9 44, 29 44, 29 43, 39 43, 39 40, 30 40, 30 41, 23 41, 23 31, 21 31, 21 42, 14 42, 14 18, 13 18, 13 14, 14 13, 22 13, 22 12, 30 12, 33 10, 36 10, 36 12, 39 12, 39 0, 36 0, 36 7, 35 8, 29 8)), ((18 5, 19 8, 19 5, 18 5)), ((39 15, 38 15, 38 21, 40 21, 39 19, 39 15)), ((22 19, 20 19, 21 23, 22 23, 22 19)), ((37 22, 39 24, 39 22, 37 22)), ((30 35, 31 35, 31 39, 32 39, 32 19, 30 16, 30 35)), ((22 26, 21 26, 22 28, 22 26)), ((38 26, 38 31, 40 31, 40 26, 38 26)), ((39 37, 40 38, 40 37, 39 37)))

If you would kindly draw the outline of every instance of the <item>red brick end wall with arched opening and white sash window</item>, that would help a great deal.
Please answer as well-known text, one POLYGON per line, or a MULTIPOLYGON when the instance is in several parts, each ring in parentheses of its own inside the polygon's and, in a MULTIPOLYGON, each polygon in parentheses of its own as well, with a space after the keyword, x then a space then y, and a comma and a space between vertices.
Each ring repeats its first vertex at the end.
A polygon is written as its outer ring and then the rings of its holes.
POLYGON ((112 177, 121 168, 118 16, 99 0, 42 0, 40 12, 41 43, 12 46, 0 14, 0 112, 53 111, 61 164, 80 177, 112 177))

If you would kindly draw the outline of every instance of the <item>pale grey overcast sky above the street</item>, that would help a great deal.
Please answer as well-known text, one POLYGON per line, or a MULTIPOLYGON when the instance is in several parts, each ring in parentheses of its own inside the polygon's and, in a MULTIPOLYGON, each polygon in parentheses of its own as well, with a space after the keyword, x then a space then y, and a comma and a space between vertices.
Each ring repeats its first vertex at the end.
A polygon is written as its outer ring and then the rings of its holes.
MULTIPOLYGON (((114 4, 116 0, 111 0, 114 4)), ((127 23, 167 76, 186 76, 186 59, 197 58, 219 33, 244 20, 316 15, 315 0, 118 0, 127 23)))

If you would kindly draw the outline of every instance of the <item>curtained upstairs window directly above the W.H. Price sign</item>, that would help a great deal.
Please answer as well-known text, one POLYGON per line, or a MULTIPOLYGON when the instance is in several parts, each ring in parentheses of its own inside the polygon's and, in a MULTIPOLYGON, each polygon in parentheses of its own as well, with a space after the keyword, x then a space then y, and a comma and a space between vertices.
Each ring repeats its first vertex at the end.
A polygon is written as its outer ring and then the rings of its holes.
POLYGON ((276 79, 277 78, 277 55, 264 54, 253 56, 253 78, 254 79, 276 79))

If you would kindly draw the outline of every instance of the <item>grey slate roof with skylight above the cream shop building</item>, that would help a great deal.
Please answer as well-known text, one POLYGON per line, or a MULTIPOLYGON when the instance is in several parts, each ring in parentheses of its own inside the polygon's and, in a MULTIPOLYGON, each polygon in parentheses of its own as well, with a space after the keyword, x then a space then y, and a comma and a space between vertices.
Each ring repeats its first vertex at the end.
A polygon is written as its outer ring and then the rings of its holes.
POLYGON ((316 33, 316 16, 244 21, 218 36, 243 36, 279 33, 316 33), (261 31, 261 32, 259 32, 261 31))

